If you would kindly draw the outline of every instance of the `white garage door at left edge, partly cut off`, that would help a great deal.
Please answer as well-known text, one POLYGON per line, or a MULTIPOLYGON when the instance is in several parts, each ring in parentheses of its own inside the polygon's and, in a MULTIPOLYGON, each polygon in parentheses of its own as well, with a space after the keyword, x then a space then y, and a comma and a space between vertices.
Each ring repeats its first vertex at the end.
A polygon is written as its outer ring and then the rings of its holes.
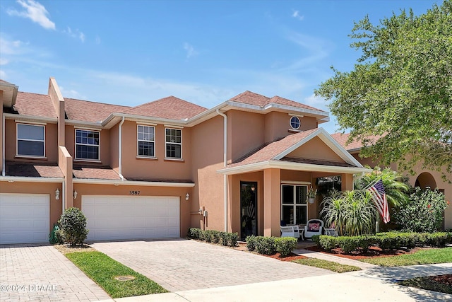
POLYGON ((49 241, 48 194, 0 194, 0 244, 49 241))

